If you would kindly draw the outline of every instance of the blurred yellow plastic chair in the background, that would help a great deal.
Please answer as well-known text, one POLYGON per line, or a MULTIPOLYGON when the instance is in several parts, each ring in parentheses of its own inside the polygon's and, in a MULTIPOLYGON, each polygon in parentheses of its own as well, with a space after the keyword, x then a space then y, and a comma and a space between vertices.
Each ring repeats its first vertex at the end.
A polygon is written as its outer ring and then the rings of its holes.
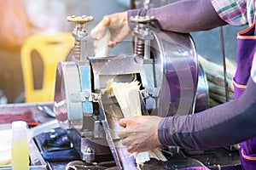
POLYGON ((54 100, 56 66, 59 61, 67 59, 73 45, 74 37, 70 32, 52 35, 33 34, 26 39, 20 51, 26 103, 54 100), (32 51, 38 52, 43 60, 44 75, 41 89, 34 88, 32 51))

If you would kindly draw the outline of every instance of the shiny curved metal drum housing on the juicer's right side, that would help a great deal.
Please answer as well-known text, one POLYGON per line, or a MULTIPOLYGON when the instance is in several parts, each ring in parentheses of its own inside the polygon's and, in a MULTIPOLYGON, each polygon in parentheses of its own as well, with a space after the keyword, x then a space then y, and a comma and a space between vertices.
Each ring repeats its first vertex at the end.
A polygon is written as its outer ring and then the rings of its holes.
POLYGON ((189 34, 153 31, 155 87, 160 88, 158 115, 188 115, 195 110, 198 60, 189 34))

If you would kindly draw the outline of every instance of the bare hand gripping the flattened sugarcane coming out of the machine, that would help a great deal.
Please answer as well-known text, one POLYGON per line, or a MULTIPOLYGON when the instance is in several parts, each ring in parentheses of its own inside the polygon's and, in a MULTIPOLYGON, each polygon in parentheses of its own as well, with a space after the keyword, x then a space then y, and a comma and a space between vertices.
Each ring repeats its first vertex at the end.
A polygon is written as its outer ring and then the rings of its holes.
POLYGON ((119 125, 125 127, 119 132, 122 144, 129 152, 152 150, 160 147, 158 124, 160 116, 131 116, 120 120, 119 125))

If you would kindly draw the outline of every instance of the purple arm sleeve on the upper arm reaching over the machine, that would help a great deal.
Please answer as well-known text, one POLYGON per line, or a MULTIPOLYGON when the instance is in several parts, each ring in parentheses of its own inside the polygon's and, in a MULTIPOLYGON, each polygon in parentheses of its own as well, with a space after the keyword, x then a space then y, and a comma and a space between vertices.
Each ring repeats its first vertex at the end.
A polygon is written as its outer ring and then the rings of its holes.
POLYGON ((227 24, 219 18, 210 0, 183 0, 160 8, 129 10, 128 22, 136 15, 153 15, 164 31, 204 31, 227 24))

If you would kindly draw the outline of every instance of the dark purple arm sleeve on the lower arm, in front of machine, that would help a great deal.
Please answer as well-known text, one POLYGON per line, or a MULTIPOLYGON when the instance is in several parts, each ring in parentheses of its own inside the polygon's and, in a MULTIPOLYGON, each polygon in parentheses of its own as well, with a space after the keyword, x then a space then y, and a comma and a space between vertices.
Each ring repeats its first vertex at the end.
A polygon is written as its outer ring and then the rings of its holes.
POLYGON ((240 99, 190 116, 164 118, 160 143, 203 150, 238 144, 256 136, 256 83, 250 78, 240 99))

